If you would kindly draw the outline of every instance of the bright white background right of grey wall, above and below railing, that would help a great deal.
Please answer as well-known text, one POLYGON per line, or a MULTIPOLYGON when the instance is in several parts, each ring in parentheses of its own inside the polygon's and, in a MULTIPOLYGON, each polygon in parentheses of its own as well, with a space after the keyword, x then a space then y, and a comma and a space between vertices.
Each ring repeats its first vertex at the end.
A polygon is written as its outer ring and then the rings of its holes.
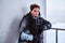
MULTIPOLYGON (((55 27, 65 29, 65 0, 47 0, 47 19, 52 24, 56 24, 55 27)), ((52 25, 54 26, 54 25, 52 25)), ((54 27, 54 28, 55 28, 54 27)), ((55 31, 47 31, 47 43, 55 43, 55 31)), ((65 31, 58 30, 57 42, 65 43, 65 31)))

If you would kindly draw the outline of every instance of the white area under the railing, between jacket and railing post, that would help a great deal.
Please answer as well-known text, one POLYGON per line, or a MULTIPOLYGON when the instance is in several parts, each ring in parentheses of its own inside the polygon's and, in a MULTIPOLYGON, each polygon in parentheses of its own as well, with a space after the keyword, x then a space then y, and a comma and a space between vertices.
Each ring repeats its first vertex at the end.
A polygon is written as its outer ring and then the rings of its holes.
POLYGON ((55 30, 47 30, 47 43, 55 43, 55 30))

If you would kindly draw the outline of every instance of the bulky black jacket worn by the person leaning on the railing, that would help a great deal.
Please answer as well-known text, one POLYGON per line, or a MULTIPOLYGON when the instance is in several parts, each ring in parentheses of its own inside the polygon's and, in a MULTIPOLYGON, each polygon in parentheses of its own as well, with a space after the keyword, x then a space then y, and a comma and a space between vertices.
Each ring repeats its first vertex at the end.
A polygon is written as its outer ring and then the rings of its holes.
POLYGON ((43 40, 43 34, 41 35, 41 33, 44 30, 51 29, 51 23, 40 17, 40 14, 37 18, 34 18, 29 12, 23 17, 20 28, 21 33, 24 31, 34 35, 34 40, 27 43, 43 43, 41 41, 43 40))

